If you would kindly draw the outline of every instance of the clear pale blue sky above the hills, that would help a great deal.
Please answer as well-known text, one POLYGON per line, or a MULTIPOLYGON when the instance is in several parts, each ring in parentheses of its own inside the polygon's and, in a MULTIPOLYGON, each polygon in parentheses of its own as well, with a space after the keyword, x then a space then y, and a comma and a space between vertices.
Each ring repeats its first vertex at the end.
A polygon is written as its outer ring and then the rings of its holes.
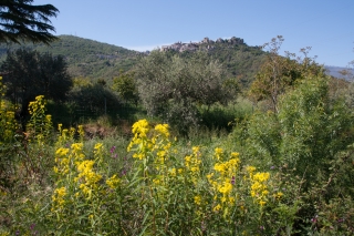
POLYGON ((34 0, 60 11, 55 35, 71 34, 136 51, 175 42, 231 37, 263 45, 282 35, 280 49, 324 65, 354 60, 354 0, 34 0))

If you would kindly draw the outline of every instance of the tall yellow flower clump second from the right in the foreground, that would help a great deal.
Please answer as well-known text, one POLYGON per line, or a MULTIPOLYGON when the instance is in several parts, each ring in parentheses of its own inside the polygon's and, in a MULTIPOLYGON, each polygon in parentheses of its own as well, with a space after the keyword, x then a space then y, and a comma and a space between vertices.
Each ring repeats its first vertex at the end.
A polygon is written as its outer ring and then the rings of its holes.
MULTIPOLYGON (((225 156, 223 150, 217 147, 215 150, 217 160, 222 160, 225 156)), ((236 174, 240 165, 239 153, 232 152, 229 161, 217 162, 214 165, 214 173, 208 174, 207 178, 215 193, 215 199, 220 203, 214 207, 215 212, 220 211, 227 205, 235 205, 235 197, 232 196, 233 185, 236 184, 236 174)))

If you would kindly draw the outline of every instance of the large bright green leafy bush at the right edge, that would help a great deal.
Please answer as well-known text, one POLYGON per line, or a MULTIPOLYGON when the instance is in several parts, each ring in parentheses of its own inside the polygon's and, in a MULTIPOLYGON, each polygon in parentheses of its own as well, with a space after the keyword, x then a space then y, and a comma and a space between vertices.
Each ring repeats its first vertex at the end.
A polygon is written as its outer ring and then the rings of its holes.
POLYGON ((308 78, 281 98, 279 113, 251 116, 243 131, 247 152, 254 161, 311 175, 353 143, 350 111, 343 99, 329 98, 326 79, 308 78))

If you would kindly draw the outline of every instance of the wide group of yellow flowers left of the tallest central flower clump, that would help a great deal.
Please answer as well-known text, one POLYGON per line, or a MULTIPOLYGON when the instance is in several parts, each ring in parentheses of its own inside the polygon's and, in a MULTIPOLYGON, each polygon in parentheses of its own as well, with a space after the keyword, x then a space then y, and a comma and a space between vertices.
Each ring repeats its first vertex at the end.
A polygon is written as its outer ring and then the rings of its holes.
POLYGON ((59 130, 62 140, 56 143, 59 146, 55 152, 54 172, 58 173, 58 187, 52 194, 52 211, 63 218, 67 213, 75 212, 80 207, 81 212, 87 211, 87 216, 94 224, 95 213, 101 211, 97 202, 101 203, 107 198, 115 199, 116 191, 121 189, 118 186, 122 179, 117 174, 108 177, 101 171, 106 170, 103 166, 105 165, 103 162, 105 150, 102 143, 94 145, 94 158, 87 158, 84 143, 73 143, 66 147, 73 140, 67 142, 65 138, 71 136, 73 130, 62 130, 62 125, 59 126, 59 130))

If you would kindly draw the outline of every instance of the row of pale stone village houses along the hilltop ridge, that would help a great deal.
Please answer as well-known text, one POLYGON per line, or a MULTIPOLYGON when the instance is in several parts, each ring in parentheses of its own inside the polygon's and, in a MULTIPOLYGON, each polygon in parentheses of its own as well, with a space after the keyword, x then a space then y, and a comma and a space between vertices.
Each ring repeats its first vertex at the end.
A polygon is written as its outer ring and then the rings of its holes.
POLYGON ((183 43, 183 42, 176 42, 171 45, 163 45, 160 48, 160 51, 196 51, 200 48, 206 50, 212 50, 217 43, 228 43, 231 45, 235 44, 244 44, 243 39, 232 37, 231 39, 217 39, 216 41, 210 40, 209 38, 204 38, 200 42, 189 42, 189 43, 183 43))

